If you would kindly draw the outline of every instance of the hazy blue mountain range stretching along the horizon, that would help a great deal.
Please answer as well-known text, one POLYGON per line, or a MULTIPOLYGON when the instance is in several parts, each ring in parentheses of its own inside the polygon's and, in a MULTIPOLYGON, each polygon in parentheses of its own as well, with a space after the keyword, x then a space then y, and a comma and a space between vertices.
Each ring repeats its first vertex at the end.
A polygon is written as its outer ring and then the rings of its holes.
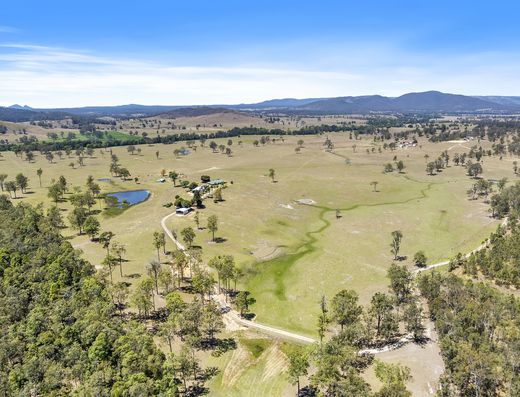
POLYGON ((370 114, 370 113, 520 113, 520 96, 466 96, 427 91, 399 97, 381 95, 335 98, 272 99, 259 103, 206 106, 88 106, 80 108, 34 109, 13 105, 0 107, 0 120, 30 121, 56 119, 66 115, 85 117, 141 117, 169 114, 190 117, 214 114, 225 109, 286 114, 370 114), (194 110, 197 109, 197 110, 194 110), (217 110, 218 109, 218 110, 217 110))

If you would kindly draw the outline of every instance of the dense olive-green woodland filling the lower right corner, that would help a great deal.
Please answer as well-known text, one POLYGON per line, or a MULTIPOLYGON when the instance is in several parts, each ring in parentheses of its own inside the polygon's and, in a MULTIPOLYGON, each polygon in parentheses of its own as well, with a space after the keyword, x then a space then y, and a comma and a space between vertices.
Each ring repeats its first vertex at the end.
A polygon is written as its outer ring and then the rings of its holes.
POLYGON ((520 395, 520 301, 437 272, 419 280, 446 366, 438 395, 520 395))

